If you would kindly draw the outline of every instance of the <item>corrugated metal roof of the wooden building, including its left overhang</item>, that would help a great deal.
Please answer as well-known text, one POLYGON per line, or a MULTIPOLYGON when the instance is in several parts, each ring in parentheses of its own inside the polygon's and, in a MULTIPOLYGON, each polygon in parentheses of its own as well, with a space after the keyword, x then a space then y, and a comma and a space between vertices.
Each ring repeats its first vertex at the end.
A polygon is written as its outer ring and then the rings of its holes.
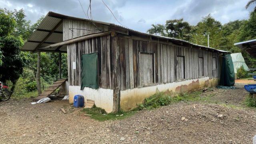
MULTIPOLYGON (((41 24, 38 26, 38 29, 50 31, 62 19, 82 20, 82 21, 90 22, 90 20, 83 19, 83 18, 76 18, 76 17, 72 17, 72 16, 65 16, 65 15, 62 15, 62 14, 54 13, 54 12, 48 12, 48 14, 42 20, 41 24)), ((116 24, 112 24, 112 23, 108 23, 108 22, 100 22, 100 21, 94 21, 94 22, 95 23, 99 23, 99 24, 108 25, 108 26, 117 27, 117 28, 122 28, 122 29, 128 30, 130 32, 136 32, 138 34, 143 34, 143 35, 147 35, 147 36, 154 36, 156 38, 164 38, 164 39, 168 39, 168 40, 172 40, 172 41, 176 41, 176 42, 183 42, 183 43, 186 43, 186 44, 190 44, 192 46, 199 46, 201 48, 206 48, 206 49, 210 49, 210 50, 216 50, 218 52, 228 52, 228 51, 218 50, 218 49, 207 47, 207 46, 201 46, 201 45, 193 44, 193 43, 185 41, 185 40, 179 40, 179 39, 176 39, 176 38, 169 38, 169 37, 165 37, 165 36, 157 36, 157 35, 154 35, 154 34, 148 34, 148 33, 144 33, 144 32, 139 32, 137 30, 133 30, 133 29, 130 29, 130 28, 126 28, 124 26, 120 26, 120 25, 116 25, 116 24)), ((55 31, 63 32, 62 24, 60 26, 58 26, 58 28, 55 31)), ((32 41, 40 41, 41 42, 48 34, 49 34, 49 32, 42 32, 42 31, 36 30, 32 34, 32 36, 28 39, 28 41, 32 40, 32 41)), ((59 34, 59 33, 53 33, 46 40, 46 42, 56 42, 56 43, 62 42, 62 41, 63 41, 63 34, 59 34)), ((24 44, 24 46, 22 47, 22 50, 35 50, 36 49, 37 44, 29 44, 29 43, 27 44, 27 43, 28 42, 26 42, 24 44)), ((44 46, 45 45, 49 45, 49 44, 44 44, 44 46)), ((66 48, 66 46, 63 46, 62 48, 60 48, 60 50, 66 51, 66 49, 64 49, 64 48, 66 48)), ((50 48, 49 50, 56 50, 56 47, 50 48)))

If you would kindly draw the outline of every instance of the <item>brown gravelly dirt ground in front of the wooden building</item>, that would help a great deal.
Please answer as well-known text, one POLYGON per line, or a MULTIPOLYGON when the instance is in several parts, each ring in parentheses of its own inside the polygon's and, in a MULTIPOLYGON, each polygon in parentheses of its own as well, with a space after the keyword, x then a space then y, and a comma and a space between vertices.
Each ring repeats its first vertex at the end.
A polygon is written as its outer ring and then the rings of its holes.
POLYGON ((11 99, 0 102, 0 143, 251 144, 256 134, 256 110, 244 106, 248 93, 243 84, 236 86, 235 90, 204 92, 202 96, 210 95, 211 103, 179 102, 104 122, 84 116, 82 108, 74 109, 63 100, 32 105, 30 99, 11 99))

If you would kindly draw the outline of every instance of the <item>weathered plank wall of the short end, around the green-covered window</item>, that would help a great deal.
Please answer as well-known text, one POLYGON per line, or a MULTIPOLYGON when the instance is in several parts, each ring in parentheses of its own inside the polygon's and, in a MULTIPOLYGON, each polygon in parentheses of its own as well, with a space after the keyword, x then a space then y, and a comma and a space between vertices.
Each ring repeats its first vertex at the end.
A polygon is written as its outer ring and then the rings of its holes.
POLYGON ((68 53, 68 79, 70 86, 81 86, 81 56, 98 52, 98 78, 99 87, 112 89, 112 48, 110 47, 111 36, 101 36, 69 44, 68 53), (76 62, 76 69, 73 69, 76 62))

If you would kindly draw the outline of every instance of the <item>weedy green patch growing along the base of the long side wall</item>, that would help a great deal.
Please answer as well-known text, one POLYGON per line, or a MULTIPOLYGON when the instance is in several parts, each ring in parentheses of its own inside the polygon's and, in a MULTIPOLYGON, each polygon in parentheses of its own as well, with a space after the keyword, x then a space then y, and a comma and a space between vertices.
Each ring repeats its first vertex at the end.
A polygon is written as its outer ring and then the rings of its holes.
POLYGON ((170 96, 165 94, 165 92, 158 92, 156 94, 153 94, 149 98, 145 98, 144 103, 138 105, 138 109, 152 109, 152 108, 158 108, 160 106, 166 106, 175 102, 195 102, 195 101, 208 101, 211 94, 208 96, 201 96, 202 91, 196 91, 196 92, 186 92, 182 94, 176 94, 176 96, 170 96))

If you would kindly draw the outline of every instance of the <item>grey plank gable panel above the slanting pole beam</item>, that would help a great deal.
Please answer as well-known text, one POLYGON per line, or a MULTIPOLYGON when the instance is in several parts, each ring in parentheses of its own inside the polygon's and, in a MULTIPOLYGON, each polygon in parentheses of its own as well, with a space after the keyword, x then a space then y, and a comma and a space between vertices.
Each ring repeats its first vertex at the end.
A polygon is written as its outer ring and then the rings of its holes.
MULTIPOLYGON (((107 25, 96 25, 102 31, 108 31, 107 25)), ((63 40, 69 40, 87 34, 101 32, 92 22, 78 20, 63 20, 63 40)))

